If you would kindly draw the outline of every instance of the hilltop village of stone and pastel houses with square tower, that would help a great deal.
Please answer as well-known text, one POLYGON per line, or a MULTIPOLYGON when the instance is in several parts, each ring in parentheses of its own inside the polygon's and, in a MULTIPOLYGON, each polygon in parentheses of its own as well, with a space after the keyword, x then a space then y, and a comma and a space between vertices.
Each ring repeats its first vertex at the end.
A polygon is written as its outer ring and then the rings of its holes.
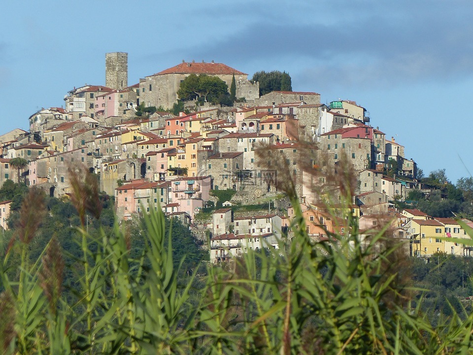
MULTIPOLYGON (((327 231, 345 232, 344 221, 323 204, 328 195, 339 201, 340 191, 317 175, 315 161, 301 156, 303 145, 310 144, 329 167, 336 169, 341 159, 352 164, 357 183, 349 208, 361 230, 372 228, 377 216, 388 215, 395 236, 410 242, 407 253, 470 254, 469 248, 443 239, 466 235, 456 220, 393 208, 393 201, 404 201, 409 191, 429 193, 431 187, 417 180, 416 163, 405 157, 404 146, 372 127, 367 110, 356 102, 326 105, 315 92, 260 95, 259 82, 250 81, 248 74, 214 62, 183 61, 129 86, 128 54, 107 53, 105 59, 105 85, 74 87, 64 97, 64 107, 32 114, 29 131, 0 136, 0 185, 10 179, 38 186, 50 196, 67 196, 68 169, 83 164, 99 177, 101 190, 114 196, 118 218, 133 219, 160 206, 196 233, 207 230, 210 258, 216 262, 265 243, 276 247, 290 223, 293 207, 284 205, 277 184, 282 176, 270 162, 260 164, 255 153, 260 144, 284 156, 309 235, 320 239, 327 231), (181 83, 192 74, 218 77, 228 88, 234 85, 238 100, 233 106, 192 101, 171 113, 181 83), (146 110, 150 107, 159 109, 146 110), (15 163, 16 158, 27 164, 15 163), (308 172, 307 165, 314 171, 308 172), (212 191, 219 190, 233 191, 232 198, 215 207, 212 191), (233 209, 271 200, 266 213, 233 209), (209 217, 198 223, 204 210, 209 217)), ((3 228, 9 204, 0 202, 3 228)))

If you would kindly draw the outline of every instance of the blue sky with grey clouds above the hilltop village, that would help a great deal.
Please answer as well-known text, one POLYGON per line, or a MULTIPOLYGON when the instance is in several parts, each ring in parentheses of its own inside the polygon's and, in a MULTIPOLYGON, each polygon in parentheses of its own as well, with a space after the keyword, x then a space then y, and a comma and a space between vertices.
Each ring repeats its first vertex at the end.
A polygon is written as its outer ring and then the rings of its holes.
POLYGON ((293 90, 354 100, 428 174, 473 173, 473 2, 7 1, 0 14, 0 133, 28 129, 74 86, 105 83, 128 52, 129 84, 183 59, 251 77, 289 72, 293 90), (462 163, 463 160, 463 163, 462 163))

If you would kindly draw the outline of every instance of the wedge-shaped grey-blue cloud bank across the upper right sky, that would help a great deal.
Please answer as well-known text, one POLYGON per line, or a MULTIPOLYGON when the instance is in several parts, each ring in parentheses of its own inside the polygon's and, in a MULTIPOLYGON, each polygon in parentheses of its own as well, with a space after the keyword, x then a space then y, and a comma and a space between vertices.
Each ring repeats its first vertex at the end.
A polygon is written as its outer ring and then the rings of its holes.
POLYGON ((473 76, 473 27, 467 21, 473 4, 454 2, 464 9, 441 1, 335 1, 332 11, 327 3, 315 13, 315 6, 302 13, 301 6, 293 8, 286 21, 283 8, 251 18, 217 40, 167 55, 216 59, 244 71, 248 65, 254 71, 281 66, 301 80, 338 76, 348 85, 452 81, 473 76))

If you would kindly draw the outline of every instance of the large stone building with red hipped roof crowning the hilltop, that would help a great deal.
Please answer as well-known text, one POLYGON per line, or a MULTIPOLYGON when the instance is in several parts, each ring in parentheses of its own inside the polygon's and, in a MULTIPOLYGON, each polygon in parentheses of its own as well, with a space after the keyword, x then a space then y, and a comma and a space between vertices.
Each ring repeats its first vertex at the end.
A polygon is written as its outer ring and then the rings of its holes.
POLYGON ((233 69, 222 63, 186 63, 182 62, 172 68, 146 76, 139 82, 139 101, 144 106, 172 107, 177 101, 177 90, 181 81, 190 74, 214 75, 225 81, 230 89, 233 75, 236 80, 236 96, 244 95, 254 100, 259 96, 259 86, 248 81, 248 74, 233 69), (251 94, 250 94, 251 92, 251 94))

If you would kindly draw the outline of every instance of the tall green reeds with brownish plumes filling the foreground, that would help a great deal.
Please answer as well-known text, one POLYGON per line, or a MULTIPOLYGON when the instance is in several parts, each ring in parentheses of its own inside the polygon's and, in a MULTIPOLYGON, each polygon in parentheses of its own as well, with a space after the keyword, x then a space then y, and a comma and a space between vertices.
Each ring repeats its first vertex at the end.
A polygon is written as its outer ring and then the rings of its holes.
MULTIPOLYGON (((283 236, 278 249, 207 265, 205 276, 194 273, 184 283, 183 260, 177 266, 172 260, 172 231, 165 245, 160 210, 144 215, 145 247, 132 258, 133 236, 117 222, 109 234, 87 233, 86 213, 100 217, 96 181, 79 168, 71 176, 82 220, 76 233, 82 256, 72 266, 80 287, 75 297, 64 296, 63 273, 71 266, 55 238, 29 261, 44 210, 41 193, 32 189, 0 263, 2 354, 473 352, 473 315, 452 309, 453 316, 434 327, 420 312, 422 300, 412 307, 409 265, 387 227, 362 240, 348 213, 349 232, 327 231, 327 240, 311 240, 290 176, 280 188, 295 208, 292 240, 283 236), (20 260, 16 269, 13 259, 20 260), (193 289, 197 279, 202 286, 193 289)), ((344 184, 340 190, 349 203, 350 183, 343 175, 332 179, 344 184)))

